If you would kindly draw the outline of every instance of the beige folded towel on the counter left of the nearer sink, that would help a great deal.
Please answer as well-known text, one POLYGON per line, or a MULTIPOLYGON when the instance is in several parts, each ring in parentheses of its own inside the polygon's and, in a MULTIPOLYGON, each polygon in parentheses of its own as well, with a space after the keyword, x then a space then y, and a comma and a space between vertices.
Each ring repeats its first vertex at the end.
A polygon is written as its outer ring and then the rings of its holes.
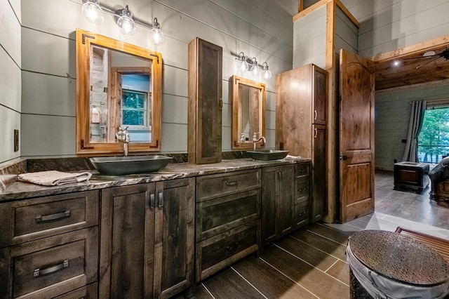
POLYGON ((18 180, 32 182, 43 186, 65 185, 72 182, 83 182, 88 180, 92 173, 62 173, 60 171, 39 171, 36 173, 22 173, 18 175, 18 180))

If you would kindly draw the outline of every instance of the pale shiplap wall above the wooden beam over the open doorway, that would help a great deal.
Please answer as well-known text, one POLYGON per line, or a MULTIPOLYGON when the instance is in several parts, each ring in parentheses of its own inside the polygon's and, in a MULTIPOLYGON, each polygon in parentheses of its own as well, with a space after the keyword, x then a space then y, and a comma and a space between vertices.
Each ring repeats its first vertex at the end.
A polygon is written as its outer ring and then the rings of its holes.
POLYGON ((360 22, 365 57, 429 41, 449 32, 448 0, 341 0, 360 22))

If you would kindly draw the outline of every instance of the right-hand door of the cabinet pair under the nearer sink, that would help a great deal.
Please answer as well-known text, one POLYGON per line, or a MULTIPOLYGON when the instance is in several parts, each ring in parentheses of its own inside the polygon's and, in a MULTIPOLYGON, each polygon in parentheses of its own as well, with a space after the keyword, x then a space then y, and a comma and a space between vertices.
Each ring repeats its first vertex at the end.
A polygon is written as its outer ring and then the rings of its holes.
POLYGON ((169 298, 194 282, 195 179, 156 183, 154 298, 169 298))

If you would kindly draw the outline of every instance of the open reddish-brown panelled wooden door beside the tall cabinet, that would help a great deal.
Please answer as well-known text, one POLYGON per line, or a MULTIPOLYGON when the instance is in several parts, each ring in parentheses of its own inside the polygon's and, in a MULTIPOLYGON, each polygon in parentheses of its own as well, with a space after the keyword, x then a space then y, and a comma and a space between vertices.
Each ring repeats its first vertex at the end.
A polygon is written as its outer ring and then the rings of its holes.
POLYGON ((340 51, 340 220, 374 211, 374 62, 340 51))

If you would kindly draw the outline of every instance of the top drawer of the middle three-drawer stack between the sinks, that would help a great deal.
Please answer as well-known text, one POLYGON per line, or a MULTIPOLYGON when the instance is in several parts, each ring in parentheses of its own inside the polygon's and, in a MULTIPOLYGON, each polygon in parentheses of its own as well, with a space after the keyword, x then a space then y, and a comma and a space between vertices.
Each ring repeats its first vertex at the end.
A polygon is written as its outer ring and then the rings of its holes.
POLYGON ((196 201, 206 201, 260 187, 260 169, 196 178, 196 201))

